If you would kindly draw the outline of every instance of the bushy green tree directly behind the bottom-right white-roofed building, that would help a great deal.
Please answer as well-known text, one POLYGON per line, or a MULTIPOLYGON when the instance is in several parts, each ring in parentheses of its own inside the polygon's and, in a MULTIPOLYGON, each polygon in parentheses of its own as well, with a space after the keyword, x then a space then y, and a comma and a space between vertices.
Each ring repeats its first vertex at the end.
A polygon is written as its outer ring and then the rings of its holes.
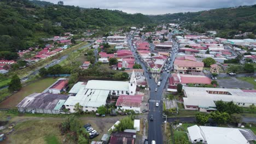
POLYGON ((218 124, 225 124, 230 121, 230 115, 226 112, 214 111, 210 113, 210 117, 218 124))

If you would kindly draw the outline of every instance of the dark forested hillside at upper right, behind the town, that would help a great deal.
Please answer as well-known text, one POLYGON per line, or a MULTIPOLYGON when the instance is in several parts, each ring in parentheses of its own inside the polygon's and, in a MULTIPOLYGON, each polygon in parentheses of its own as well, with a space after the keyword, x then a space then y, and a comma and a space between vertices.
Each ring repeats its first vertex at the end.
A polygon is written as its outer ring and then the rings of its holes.
POLYGON ((238 31, 256 34, 256 5, 236 8, 213 9, 195 13, 177 13, 149 16, 158 22, 182 22, 191 31, 204 33, 219 31, 219 37, 232 37, 238 31))

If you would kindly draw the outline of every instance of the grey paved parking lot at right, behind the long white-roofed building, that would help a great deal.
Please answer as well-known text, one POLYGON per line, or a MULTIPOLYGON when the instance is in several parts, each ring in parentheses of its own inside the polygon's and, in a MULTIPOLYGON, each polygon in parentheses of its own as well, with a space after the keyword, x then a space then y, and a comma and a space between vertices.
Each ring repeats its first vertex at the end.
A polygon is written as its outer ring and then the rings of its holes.
POLYGON ((254 87, 251 83, 246 81, 240 81, 235 77, 228 77, 225 79, 219 79, 217 81, 220 87, 225 87, 225 88, 243 88, 243 89, 252 88, 253 89, 254 87))

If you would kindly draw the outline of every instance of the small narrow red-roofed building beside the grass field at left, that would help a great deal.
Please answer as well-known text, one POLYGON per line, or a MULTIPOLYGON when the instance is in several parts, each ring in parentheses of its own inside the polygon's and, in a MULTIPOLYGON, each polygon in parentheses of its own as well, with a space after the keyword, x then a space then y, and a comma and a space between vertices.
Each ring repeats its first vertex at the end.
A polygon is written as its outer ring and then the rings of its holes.
POLYGON ((65 90, 68 79, 59 79, 49 87, 49 93, 59 94, 65 90))

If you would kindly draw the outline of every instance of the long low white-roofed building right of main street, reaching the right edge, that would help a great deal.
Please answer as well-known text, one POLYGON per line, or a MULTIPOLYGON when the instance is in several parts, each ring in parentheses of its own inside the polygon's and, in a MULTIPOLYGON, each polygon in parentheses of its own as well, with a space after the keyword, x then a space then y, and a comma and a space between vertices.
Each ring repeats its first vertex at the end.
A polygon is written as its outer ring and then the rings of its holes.
POLYGON ((184 108, 186 110, 216 110, 215 101, 233 101, 236 105, 249 107, 256 105, 256 91, 231 88, 183 87, 184 108))

